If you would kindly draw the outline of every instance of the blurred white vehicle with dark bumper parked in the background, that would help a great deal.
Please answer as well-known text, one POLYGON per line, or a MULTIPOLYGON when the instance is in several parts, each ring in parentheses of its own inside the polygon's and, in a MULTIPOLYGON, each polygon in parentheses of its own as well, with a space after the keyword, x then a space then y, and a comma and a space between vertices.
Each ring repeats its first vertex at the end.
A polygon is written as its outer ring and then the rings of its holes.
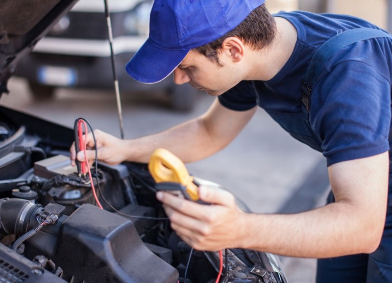
MULTIPOLYGON (((172 109, 191 110, 198 90, 190 85, 177 86, 172 76, 147 85, 125 72, 126 63, 148 37, 152 2, 108 1, 120 91, 163 90, 172 109)), ((114 88, 103 0, 76 3, 19 63, 15 76, 27 79, 36 98, 50 98, 57 87, 114 88)))

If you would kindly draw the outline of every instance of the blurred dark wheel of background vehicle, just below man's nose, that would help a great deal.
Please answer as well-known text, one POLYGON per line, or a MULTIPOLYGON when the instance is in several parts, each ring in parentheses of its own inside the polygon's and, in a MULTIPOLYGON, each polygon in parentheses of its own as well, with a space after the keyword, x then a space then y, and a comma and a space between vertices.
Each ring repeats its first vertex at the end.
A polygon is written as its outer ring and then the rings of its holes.
POLYGON ((170 107, 176 111, 189 112, 194 108, 197 89, 188 84, 169 88, 170 107))

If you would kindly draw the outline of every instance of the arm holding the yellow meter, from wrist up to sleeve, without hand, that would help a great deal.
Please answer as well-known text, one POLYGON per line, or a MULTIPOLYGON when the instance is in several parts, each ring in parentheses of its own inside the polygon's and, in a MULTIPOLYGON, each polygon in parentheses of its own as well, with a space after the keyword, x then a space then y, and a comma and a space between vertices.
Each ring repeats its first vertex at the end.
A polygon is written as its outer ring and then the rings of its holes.
MULTIPOLYGON (((336 202, 292 215, 246 215, 245 247, 295 257, 370 253, 381 239, 388 195, 388 152, 328 168, 336 202)), ((241 220, 240 220, 241 222, 241 220)))

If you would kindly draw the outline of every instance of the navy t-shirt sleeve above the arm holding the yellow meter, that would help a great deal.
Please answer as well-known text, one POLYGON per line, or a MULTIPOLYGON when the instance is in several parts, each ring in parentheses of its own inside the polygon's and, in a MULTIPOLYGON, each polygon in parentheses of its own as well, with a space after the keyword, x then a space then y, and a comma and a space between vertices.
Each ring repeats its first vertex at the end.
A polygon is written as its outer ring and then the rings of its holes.
POLYGON ((312 94, 310 121, 323 141, 328 166, 389 150, 388 78, 364 62, 342 62, 313 93, 317 94, 312 94))

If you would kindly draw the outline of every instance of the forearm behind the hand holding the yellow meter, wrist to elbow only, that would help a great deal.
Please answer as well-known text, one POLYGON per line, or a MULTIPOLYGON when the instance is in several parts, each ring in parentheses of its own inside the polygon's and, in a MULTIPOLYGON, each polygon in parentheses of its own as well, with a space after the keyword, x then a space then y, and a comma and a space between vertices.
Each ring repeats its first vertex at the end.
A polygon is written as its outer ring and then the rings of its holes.
MULTIPOLYGON (((378 217, 383 221, 382 215, 378 217)), ((332 203, 292 215, 247 214, 240 224, 246 227, 246 236, 239 235, 239 245, 306 258, 370 253, 380 239, 368 232, 379 231, 380 225, 379 221, 364 219, 366 216, 358 215, 348 203, 332 203)))

